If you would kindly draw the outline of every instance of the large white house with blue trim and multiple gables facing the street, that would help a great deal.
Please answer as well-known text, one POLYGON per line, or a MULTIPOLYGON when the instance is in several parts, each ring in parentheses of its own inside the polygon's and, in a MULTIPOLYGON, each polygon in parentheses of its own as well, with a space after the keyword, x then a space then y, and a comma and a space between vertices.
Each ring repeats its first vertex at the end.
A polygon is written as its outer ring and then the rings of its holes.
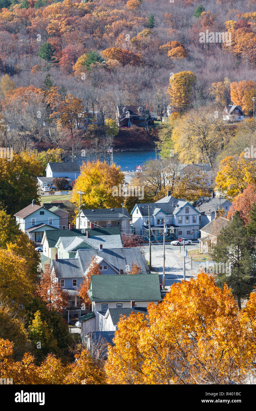
POLYGON ((144 236, 148 239, 149 216, 151 240, 163 238, 164 222, 166 224, 166 238, 176 239, 179 237, 188 240, 197 240, 199 237, 199 215, 196 210, 185 199, 175 199, 171 191, 167 196, 155 203, 137 203, 131 212, 132 233, 144 236))

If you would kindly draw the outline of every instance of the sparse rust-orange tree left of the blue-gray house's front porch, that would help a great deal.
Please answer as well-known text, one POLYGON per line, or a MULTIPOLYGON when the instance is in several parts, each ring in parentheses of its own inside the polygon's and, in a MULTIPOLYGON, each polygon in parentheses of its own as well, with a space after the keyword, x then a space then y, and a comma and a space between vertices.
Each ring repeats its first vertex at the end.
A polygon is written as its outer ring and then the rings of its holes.
POLYGON ((41 273, 37 293, 46 302, 50 311, 55 309, 62 312, 67 307, 69 294, 62 289, 50 266, 46 266, 45 271, 41 273))

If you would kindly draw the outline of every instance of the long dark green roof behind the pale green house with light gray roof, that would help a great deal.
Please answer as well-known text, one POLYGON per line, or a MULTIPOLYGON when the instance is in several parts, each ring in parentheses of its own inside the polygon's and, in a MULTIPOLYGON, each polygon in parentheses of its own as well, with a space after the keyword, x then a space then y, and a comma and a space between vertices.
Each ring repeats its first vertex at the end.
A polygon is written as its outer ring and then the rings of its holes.
MULTIPOLYGON (((44 236, 46 236, 48 241, 48 246, 50 248, 55 248, 56 243, 60 237, 84 237, 86 231, 90 231, 91 236, 109 236, 109 235, 120 235, 119 227, 107 227, 105 229, 94 228, 91 229, 65 229, 65 230, 46 230, 44 236)), ((44 239, 44 237, 43 237, 44 239)), ((42 239, 42 240, 43 240, 42 239)))

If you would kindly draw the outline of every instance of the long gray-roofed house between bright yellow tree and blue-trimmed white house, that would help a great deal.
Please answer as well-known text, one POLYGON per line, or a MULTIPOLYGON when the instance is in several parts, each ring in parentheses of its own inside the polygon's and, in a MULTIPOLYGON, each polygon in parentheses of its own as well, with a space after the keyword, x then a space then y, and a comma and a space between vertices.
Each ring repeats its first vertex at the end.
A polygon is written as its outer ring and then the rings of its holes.
POLYGON ((76 217, 76 228, 88 228, 90 223, 97 227, 119 227, 122 233, 130 232, 131 216, 125 207, 82 209, 76 217))

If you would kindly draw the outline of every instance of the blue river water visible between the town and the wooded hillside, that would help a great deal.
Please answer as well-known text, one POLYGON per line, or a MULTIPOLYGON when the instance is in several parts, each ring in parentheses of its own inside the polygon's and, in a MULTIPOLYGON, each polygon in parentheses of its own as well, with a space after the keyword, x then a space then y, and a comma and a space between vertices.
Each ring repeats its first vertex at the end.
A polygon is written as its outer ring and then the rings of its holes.
MULTIPOLYGON (((155 160, 155 151, 115 151, 113 152, 113 162, 120 166, 122 171, 136 171, 136 166, 142 166, 149 160, 155 160), (127 167, 127 168, 126 168, 127 167)), ((157 158, 159 153, 157 152, 157 158)), ((81 165, 86 157, 78 157, 77 161, 81 165)))

